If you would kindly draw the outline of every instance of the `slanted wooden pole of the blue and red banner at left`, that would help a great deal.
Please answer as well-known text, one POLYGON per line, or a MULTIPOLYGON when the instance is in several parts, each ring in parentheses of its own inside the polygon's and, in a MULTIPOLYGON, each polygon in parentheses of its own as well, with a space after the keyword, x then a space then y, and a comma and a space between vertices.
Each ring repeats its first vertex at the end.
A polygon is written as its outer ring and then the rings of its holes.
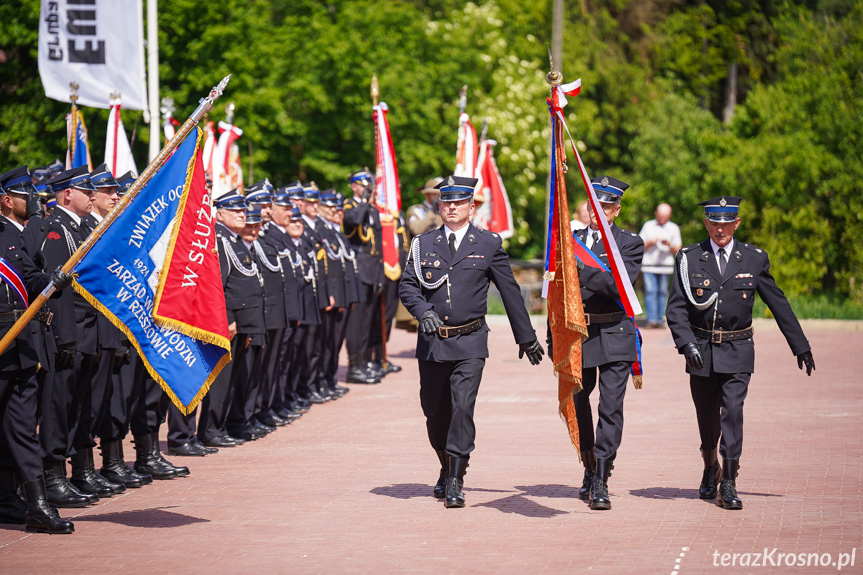
MULTIPOLYGON (((222 79, 221 82, 217 86, 214 86, 212 90, 210 90, 209 95, 206 98, 201 98, 198 102, 198 107, 192 112, 192 115, 183 123, 180 129, 174 134, 174 137, 165 145, 161 152, 156 156, 156 158, 150 162, 147 168, 144 170, 144 173, 140 175, 140 177, 135 180, 132 184, 132 187, 129 188, 129 191, 126 192, 120 201, 114 206, 108 215, 99 222, 99 225, 96 226, 96 229, 93 230, 93 233, 84 241, 83 244, 72 254, 63 267, 61 268, 64 272, 69 273, 72 269, 78 264, 81 258, 90 251, 99 238, 102 237, 102 234, 108 229, 108 227, 114 223, 123 210, 135 199, 138 193, 144 188, 144 186, 149 183, 150 179, 159 171, 159 169, 164 165, 164 163, 171 157, 171 154, 174 150, 179 146, 183 140, 186 139, 186 136, 189 135, 195 126, 198 125, 198 122, 201 120, 203 115, 212 109, 213 103, 216 99, 222 95, 225 91, 225 87, 228 85, 228 81, 230 81, 231 75, 228 74, 225 78, 222 79)), ((74 105, 74 104, 73 104, 74 105)), ((42 290, 42 293, 30 304, 24 314, 18 318, 18 321, 15 322, 6 335, 3 336, 3 339, 0 340, 0 354, 6 351, 6 348, 9 347, 9 344, 12 343, 12 340, 21 332, 22 329, 33 319, 33 316, 42 308, 42 305, 45 301, 51 297, 51 295, 56 291, 54 284, 49 283, 48 286, 42 290)))

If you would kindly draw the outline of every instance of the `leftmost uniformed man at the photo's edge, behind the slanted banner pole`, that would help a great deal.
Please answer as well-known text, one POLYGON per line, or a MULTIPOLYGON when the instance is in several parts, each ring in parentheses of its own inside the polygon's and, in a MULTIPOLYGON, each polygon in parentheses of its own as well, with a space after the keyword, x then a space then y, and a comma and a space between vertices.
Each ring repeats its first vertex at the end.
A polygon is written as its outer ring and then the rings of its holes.
MULTIPOLYGON (((30 172, 26 166, 0 175, 0 194, 14 193, 35 196, 30 172)), ((28 198, 29 199, 29 198, 28 198)), ((49 278, 42 273, 23 249, 20 230, 11 221, 0 221, 0 253, 6 276, 0 287, 0 336, 5 335, 22 315, 25 305, 37 297, 49 281, 58 290, 72 284, 72 276, 57 270, 49 278), (12 271, 14 270, 14 272, 12 271), (24 293, 10 283, 9 276, 21 279, 24 293)), ((56 292, 58 295, 60 291, 56 292)), ((50 323, 49 313, 41 311, 30 323, 50 323)), ((50 332, 48 332, 50 335, 50 332)), ((72 533, 72 522, 61 519, 48 502, 42 472, 39 439, 36 436, 38 385, 36 371, 40 369, 38 351, 43 342, 25 327, 0 356, 0 523, 24 524, 28 532, 72 533), (18 497, 18 486, 24 493, 18 497)), ((53 342, 51 342, 53 344, 53 342)), ((41 366, 49 369, 51 363, 41 366)))

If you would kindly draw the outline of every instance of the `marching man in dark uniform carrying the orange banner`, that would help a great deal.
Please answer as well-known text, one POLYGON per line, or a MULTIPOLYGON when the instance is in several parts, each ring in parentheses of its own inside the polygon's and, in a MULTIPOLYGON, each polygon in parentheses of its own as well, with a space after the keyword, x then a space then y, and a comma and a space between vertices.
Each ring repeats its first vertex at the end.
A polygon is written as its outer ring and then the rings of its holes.
MULTIPOLYGON (((611 234, 620 250, 626 274, 635 282, 641 270, 644 241, 632 232, 614 224, 620 214, 620 202, 629 184, 609 176, 591 180, 596 198, 609 223, 611 234)), ((597 223, 590 211, 590 225, 578 232, 588 248, 608 264, 608 256, 597 223)), ((580 263, 580 262, 579 262, 580 263)), ((587 339, 582 344, 582 391, 575 394, 575 413, 581 438, 581 461, 584 479, 579 497, 590 501, 591 509, 611 509, 608 477, 623 436, 623 398, 633 362, 638 359, 635 325, 615 300, 620 298, 612 274, 578 266, 581 299, 587 321, 587 339), (599 382, 599 417, 594 434, 590 394, 599 382)), ((548 332, 549 354, 551 329, 548 332)))

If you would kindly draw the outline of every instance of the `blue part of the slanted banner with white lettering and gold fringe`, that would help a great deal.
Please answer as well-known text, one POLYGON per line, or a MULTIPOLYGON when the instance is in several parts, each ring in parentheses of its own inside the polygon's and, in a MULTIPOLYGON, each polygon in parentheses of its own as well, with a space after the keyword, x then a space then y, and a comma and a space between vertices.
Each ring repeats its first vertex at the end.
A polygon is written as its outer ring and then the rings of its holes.
MULTIPOLYGON (((153 319, 160 276, 163 268, 167 269, 166 254, 170 259, 174 252, 193 173, 203 185, 203 168, 196 166, 201 162, 200 130, 195 132, 177 147, 74 268, 75 291, 126 334, 150 375, 183 413, 195 408, 230 361, 226 339, 221 346, 206 343, 162 327, 159 319, 153 319)), ((209 226, 206 231, 214 236, 208 195, 204 201, 205 206, 196 207, 203 214, 198 225, 204 230, 209 226)), ((185 253, 180 255, 186 257, 185 253)), ((189 277, 194 275, 189 273, 189 277)), ((194 286, 196 282, 187 283, 194 286)), ((221 284, 217 287, 219 293, 210 295, 224 302, 221 284)))

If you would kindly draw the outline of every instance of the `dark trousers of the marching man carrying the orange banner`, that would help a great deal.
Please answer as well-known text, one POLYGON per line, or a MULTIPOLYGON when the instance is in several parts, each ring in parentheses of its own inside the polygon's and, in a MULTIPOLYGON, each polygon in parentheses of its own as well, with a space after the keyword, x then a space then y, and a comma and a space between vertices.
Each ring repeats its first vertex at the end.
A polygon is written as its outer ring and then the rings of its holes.
POLYGON ((597 459, 614 460, 623 437, 623 397, 632 364, 625 361, 605 363, 581 370, 582 390, 575 394, 575 418, 581 439, 581 450, 593 448, 597 459), (599 373, 599 417, 593 432, 590 394, 596 388, 599 373))

